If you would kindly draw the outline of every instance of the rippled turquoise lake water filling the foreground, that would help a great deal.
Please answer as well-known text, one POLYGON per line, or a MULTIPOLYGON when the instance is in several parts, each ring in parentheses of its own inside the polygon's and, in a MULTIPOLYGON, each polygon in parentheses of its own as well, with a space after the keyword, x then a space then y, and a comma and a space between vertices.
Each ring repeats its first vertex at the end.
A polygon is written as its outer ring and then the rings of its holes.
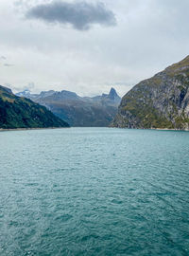
POLYGON ((189 133, 0 133, 0 255, 189 255, 189 133))

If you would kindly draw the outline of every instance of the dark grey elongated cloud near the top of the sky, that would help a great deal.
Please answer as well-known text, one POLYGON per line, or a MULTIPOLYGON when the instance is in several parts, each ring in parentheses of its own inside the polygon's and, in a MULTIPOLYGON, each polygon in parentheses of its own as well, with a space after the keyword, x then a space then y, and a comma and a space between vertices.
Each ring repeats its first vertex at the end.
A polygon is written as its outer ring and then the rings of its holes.
POLYGON ((112 10, 99 2, 94 5, 86 2, 56 1, 28 9, 26 18, 41 19, 47 23, 71 24, 78 30, 87 30, 94 24, 116 25, 112 10))

